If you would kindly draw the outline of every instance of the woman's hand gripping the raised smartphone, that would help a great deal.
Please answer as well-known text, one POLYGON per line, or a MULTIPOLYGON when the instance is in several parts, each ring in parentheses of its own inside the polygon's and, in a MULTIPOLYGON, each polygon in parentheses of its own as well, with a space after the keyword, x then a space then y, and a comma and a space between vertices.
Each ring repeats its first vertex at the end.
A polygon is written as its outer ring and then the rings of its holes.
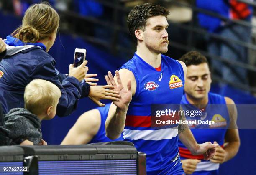
POLYGON ((87 71, 89 70, 88 67, 84 67, 87 64, 87 60, 84 61, 80 66, 74 68, 73 64, 69 65, 69 76, 73 76, 78 81, 82 81, 85 78, 87 71))

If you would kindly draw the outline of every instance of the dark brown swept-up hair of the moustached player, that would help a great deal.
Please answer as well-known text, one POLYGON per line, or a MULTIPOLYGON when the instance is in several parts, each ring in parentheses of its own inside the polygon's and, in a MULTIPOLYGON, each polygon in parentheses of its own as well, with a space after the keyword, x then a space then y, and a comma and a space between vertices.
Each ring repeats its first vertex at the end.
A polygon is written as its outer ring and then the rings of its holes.
POLYGON ((148 18, 159 15, 165 16, 167 18, 169 11, 160 5, 149 3, 136 5, 133 7, 128 15, 127 24, 130 35, 132 36, 135 43, 137 43, 137 38, 134 34, 135 30, 139 29, 144 31, 148 18))

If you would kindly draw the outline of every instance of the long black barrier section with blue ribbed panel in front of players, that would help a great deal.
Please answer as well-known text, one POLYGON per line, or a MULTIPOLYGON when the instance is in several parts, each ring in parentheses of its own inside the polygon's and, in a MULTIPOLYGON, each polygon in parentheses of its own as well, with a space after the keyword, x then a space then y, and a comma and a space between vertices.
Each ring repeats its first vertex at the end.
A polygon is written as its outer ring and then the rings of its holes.
POLYGON ((17 146, 24 150, 26 175, 145 175, 146 154, 125 142, 94 145, 17 146), (118 145, 116 145, 119 143, 118 145))

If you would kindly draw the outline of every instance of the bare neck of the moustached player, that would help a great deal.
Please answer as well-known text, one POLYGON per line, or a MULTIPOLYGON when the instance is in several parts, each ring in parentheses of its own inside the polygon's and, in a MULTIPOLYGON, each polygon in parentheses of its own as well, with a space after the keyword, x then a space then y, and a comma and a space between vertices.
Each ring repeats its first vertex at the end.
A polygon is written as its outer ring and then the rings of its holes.
POLYGON ((137 55, 154 68, 161 66, 161 54, 154 53, 144 45, 137 46, 137 55))

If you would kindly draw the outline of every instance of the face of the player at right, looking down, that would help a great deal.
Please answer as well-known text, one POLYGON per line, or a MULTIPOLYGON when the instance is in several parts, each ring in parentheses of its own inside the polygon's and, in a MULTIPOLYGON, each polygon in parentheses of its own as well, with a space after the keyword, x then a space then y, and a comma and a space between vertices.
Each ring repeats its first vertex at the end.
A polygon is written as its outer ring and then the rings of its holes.
POLYGON ((187 66, 184 90, 193 99, 204 99, 210 91, 212 79, 207 63, 187 66))

